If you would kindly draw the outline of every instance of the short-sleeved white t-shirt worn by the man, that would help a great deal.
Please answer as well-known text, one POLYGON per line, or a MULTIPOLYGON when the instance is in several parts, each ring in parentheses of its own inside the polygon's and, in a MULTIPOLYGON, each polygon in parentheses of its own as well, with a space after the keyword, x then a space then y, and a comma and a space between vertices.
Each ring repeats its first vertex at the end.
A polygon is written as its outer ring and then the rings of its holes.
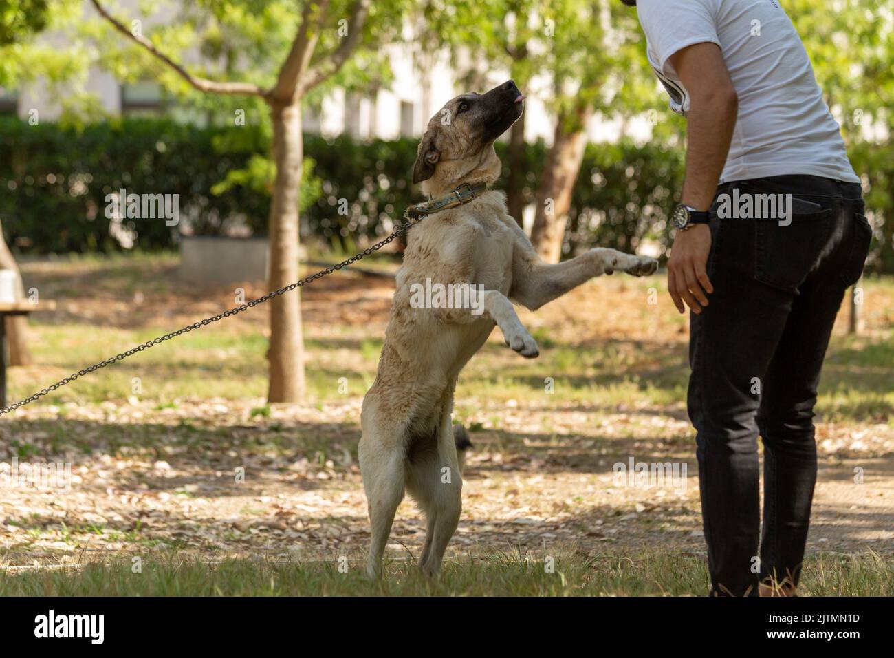
POLYGON ((786 174, 860 182, 779 0, 639 0, 637 13, 649 63, 678 114, 686 115, 689 95, 671 55, 703 42, 721 48, 738 94, 721 183, 786 174))

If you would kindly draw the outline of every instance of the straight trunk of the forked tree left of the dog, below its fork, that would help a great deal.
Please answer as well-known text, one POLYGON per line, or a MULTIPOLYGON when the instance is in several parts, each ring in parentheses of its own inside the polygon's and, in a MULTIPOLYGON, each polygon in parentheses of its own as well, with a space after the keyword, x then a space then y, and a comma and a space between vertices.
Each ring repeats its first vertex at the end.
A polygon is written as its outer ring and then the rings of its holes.
MULTIPOLYGON (((299 102, 272 105, 276 179, 270 204, 270 289, 299 277, 298 200, 304 142, 299 102)), ((302 402, 305 393, 300 289, 274 297, 270 307, 268 402, 302 402)))

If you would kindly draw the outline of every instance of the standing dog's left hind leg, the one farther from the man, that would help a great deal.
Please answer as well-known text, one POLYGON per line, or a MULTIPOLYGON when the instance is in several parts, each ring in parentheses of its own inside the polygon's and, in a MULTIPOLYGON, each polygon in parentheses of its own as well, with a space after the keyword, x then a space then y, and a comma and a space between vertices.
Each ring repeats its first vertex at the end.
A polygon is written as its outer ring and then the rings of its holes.
POLYGON ((365 439, 366 436, 360 440, 358 452, 371 526, 367 576, 378 577, 385 545, 394 523, 394 513, 403 500, 406 457, 402 449, 386 451, 381 442, 365 439))

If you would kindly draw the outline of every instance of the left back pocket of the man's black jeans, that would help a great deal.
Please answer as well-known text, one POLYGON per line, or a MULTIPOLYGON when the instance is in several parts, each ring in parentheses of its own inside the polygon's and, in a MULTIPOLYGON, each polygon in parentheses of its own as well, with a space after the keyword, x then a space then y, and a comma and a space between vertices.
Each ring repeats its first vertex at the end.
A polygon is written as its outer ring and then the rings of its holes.
POLYGON ((792 213, 789 223, 755 219, 755 280, 789 293, 797 291, 831 232, 832 209, 792 213))

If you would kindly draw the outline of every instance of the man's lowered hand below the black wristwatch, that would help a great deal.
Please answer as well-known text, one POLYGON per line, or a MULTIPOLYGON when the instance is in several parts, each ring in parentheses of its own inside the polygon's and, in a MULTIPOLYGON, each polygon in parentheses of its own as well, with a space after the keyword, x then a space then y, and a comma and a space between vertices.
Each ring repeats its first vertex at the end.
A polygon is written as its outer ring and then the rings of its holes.
POLYGON ((714 292, 705 269, 709 252, 711 229, 706 224, 678 231, 674 237, 668 259, 668 291, 681 313, 686 312, 684 301, 692 312, 702 312, 702 307, 708 305, 707 294, 714 292))

